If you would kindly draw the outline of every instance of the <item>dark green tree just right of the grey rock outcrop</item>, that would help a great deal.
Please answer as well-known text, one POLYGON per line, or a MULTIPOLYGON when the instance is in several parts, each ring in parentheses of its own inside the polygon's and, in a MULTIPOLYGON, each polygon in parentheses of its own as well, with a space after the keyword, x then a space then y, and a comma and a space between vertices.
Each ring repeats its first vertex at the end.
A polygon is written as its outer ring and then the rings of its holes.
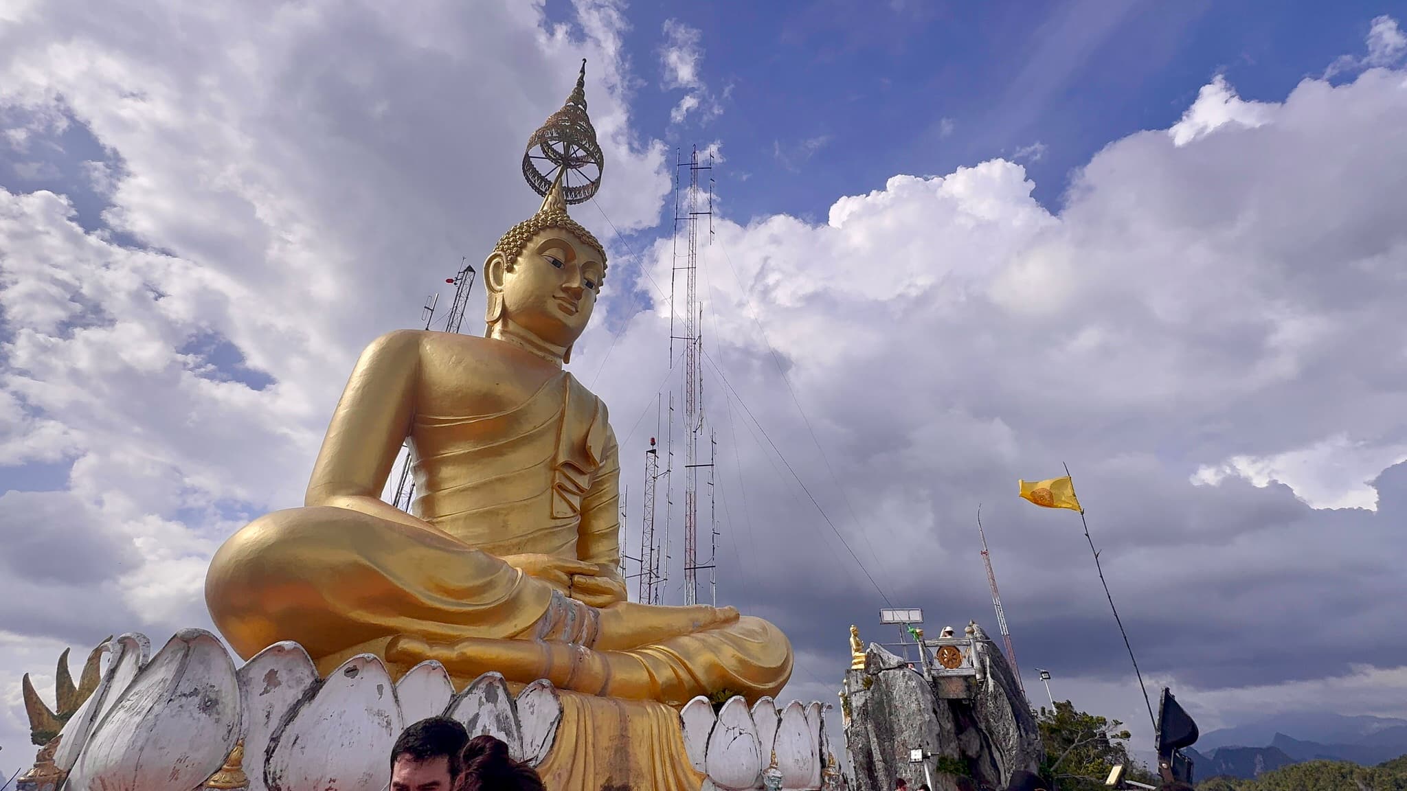
POLYGON ((1041 776, 1059 791, 1104 791, 1104 778, 1117 764, 1128 767, 1128 780, 1152 783, 1152 774, 1128 756, 1128 730, 1123 722, 1086 714, 1069 701, 1037 715, 1045 763, 1041 776))

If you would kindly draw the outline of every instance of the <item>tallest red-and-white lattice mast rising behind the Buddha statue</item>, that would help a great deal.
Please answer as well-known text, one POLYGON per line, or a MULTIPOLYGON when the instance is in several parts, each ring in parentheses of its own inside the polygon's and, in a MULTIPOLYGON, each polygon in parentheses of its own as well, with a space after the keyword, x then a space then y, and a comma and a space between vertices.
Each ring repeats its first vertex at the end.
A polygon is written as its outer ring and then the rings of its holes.
MULTIPOLYGON (((716 586, 716 531, 711 528, 709 562, 699 563, 698 553, 698 517, 699 517, 699 470, 705 470, 709 495, 713 491, 713 463, 712 453, 708 463, 699 462, 699 435, 704 434, 704 377, 702 357, 704 339, 699 324, 702 322, 702 307, 698 300, 698 236, 699 220, 708 218, 709 239, 713 238, 713 179, 712 158, 708 165, 699 165, 699 152, 695 146, 688 162, 675 155, 674 162, 674 269, 671 277, 671 307, 673 293, 678 284, 680 272, 684 273, 684 308, 670 311, 670 359, 674 359, 674 341, 684 342, 684 604, 698 604, 698 573, 709 571, 709 584, 716 586), (689 186, 680 200, 680 176, 684 167, 689 172, 689 186), (709 186, 705 203, 704 190, 699 189, 699 173, 708 173, 709 186), (682 231, 682 234, 681 234, 682 231), (680 238, 684 238, 682 265, 680 256, 680 238), (674 334, 674 315, 682 314, 682 335, 674 334)), ((712 510, 712 508, 711 508, 712 510)))

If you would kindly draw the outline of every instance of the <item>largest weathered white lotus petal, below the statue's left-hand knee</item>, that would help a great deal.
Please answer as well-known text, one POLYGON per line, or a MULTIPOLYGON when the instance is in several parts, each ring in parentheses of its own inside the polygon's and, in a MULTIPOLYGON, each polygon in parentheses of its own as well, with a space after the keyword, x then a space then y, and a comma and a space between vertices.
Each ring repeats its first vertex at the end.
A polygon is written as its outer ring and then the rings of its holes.
POLYGON ((190 791, 239 738, 239 681, 219 640, 182 629, 89 736, 70 788, 190 791))

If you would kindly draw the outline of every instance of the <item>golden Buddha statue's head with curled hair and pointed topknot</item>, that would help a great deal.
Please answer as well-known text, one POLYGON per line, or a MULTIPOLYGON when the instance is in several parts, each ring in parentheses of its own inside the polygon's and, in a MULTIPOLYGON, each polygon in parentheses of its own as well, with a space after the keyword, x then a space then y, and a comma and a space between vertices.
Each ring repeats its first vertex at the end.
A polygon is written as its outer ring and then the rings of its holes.
POLYGON ((485 335, 571 359, 606 273, 601 242, 567 215, 560 183, 484 262, 485 335))

